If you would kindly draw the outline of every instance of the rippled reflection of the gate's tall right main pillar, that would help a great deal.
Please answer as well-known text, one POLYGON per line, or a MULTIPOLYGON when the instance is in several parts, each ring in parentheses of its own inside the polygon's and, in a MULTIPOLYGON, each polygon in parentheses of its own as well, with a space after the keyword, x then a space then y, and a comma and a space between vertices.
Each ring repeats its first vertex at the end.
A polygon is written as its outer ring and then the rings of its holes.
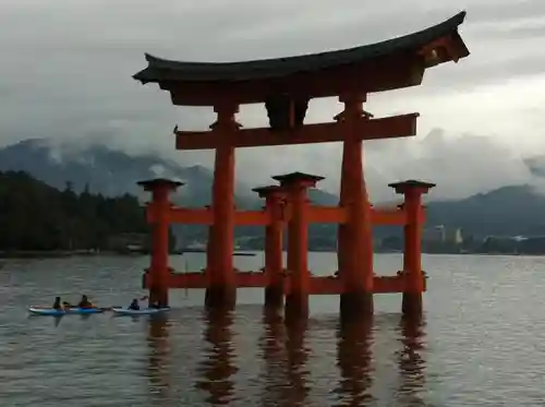
POLYGON ((337 330, 337 366, 340 381, 335 393, 340 406, 367 406, 373 402, 371 345, 373 319, 339 323, 337 330))

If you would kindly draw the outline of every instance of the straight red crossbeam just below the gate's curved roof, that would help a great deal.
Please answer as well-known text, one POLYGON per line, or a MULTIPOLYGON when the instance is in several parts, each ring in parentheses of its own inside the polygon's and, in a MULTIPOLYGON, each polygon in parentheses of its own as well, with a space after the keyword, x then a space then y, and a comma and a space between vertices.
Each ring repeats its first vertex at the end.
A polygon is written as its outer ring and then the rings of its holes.
MULTIPOLYGON (((416 134, 419 113, 392 116, 380 119, 362 117, 358 122, 360 140, 405 137, 416 134)), ((347 137, 341 123, 306 124, 288 131, 271 131, 269 128, 241 129, 226 140, 225 134, 210 131, 175 130, 178 149, 211 149, 229 143, 233 147, 257 147, 293 144, 341 142, 347 137)))

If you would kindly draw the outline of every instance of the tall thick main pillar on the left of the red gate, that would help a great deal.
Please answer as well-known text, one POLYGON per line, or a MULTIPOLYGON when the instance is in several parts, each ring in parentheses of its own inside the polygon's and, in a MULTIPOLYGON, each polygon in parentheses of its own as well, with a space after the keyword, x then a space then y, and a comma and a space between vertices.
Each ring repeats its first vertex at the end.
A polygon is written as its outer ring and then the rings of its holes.
POLYGON ((231 135, 239 130, 235 121, 237 105, 221 105, 214 109, 217 121, 210 125, 213 132, 221 133, 225 142, 216 147, 214 164, 214 184, 211 210, 214 225, 210 227, 207 247, 208 288, 206 306, 234 307, 237 282, 233 268, 234 232, 234 147, 230 145, 231 135))

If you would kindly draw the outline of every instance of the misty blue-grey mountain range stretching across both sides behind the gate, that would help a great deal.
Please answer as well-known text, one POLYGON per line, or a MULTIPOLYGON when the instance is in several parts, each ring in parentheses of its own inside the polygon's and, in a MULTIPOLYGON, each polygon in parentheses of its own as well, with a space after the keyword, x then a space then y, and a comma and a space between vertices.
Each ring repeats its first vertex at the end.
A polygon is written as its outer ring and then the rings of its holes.
MULTIPOLYGON (((545 157, 526 158, 523 163, 535 178, 532 184, 505 185, 461 200, 434 200, 432 194, 426 200, 428 225, 461 227, 465 234, 476 237, 545 235, 545 196, 538 187, 542 180, 545 183, 545 157)), ((203 206, 209 204, 211 197, 213 171, 209 168, 198 165, 184 167, 154 153, 132 156, 104 145, 78 148, 65 144, 53 147, 45 140, 26 140, 0 149, 0 170, 24 170, 59 189, 71 182, 75 191, 83 191, 87 185, 89 191, 105 195, 129 192, 141 197, 147 194, 136 185, 137 181, 167 177, 185 182, 174 196, 178 204, 203 206)), ((257 194, 251 191, 253 187, 240 181, 237 183, 235 201, 240 208, 263 205, 257 194)), ((310 195, 316 204, 338 203, 338 196, 327 191, 316 189, 310 195)), ((335 238, 335 225, 315 226, 311 232, 314 230, 328 239, 335 238)), ((239 236, 262 232, 259 228, 252 227, 237 229, 239 236)), ((201 239, 206 232, 204 227, 196 226, 184 230, 190 231, 191 239, 201 239)), ((377 228, 378 236, 391 232, 391 228, 377 228)))

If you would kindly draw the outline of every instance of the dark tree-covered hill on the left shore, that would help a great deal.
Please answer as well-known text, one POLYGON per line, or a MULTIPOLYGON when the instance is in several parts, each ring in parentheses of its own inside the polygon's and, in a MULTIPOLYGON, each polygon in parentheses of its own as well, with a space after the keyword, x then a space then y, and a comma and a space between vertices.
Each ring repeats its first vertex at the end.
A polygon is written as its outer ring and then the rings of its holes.
POLYGON ((0 250, 106 249, 118 234, 148 234, 136 196, 52 188, 23 171, 0 171, 0 250))

